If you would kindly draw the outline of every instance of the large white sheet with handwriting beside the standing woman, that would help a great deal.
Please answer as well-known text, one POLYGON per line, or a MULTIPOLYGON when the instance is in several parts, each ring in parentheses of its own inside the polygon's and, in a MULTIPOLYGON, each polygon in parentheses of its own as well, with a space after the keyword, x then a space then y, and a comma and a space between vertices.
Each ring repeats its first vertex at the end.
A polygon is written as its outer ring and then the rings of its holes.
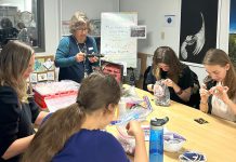
POLYGON ((131 26, 137 25, 137 13, 102 13, 101 53, 106 60, 126 63, 136 68, 136 38, 131 26))

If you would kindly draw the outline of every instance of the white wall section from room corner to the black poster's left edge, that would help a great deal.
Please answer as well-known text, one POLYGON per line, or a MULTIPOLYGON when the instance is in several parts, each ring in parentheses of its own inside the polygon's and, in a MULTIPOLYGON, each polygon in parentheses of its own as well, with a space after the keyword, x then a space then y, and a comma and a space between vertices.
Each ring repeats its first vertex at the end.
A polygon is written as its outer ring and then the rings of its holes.
POLYGON ((139 25, 147 26, 147 39, 137 41, 137 51, 141 53, 153 54, 159 45, 170 45, 174 50, 179 48, 179 19, 180 0, 120 0, 120 11, 136 11, 139 25), (163 26, 163 15, 176 15, 174 27, 163 26), (161 35, 165 35, 161 39, 161 35))

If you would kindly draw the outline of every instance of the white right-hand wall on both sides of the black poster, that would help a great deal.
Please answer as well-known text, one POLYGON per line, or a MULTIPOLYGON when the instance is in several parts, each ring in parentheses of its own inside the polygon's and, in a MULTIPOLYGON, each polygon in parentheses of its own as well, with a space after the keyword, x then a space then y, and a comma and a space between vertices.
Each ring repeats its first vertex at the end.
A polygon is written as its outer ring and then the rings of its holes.
MULTIPOLYGON (((228 50, 230 0, 219 0, 217 48, 228 50)), ((136 11, 139 25, 147 26, 147 39, 137 41, 137 51, 153 54, 157 46, 168 45, 179 53, 181 0, 120 0, 120 11, 136 11), (165 26, 165 15, 175 15, 173 26, 165 26)), ((205 68, 188 64, 201 82, 207 76, 205 68)))

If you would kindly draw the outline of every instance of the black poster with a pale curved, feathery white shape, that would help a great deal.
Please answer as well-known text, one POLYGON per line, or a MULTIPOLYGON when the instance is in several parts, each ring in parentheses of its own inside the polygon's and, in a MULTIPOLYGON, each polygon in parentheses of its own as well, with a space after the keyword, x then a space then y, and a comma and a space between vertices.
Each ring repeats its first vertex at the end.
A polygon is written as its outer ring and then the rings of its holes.
POLYGON ((217 46, 217 0, 182 0, 179 58, 200 66, 206 52, 217 46))

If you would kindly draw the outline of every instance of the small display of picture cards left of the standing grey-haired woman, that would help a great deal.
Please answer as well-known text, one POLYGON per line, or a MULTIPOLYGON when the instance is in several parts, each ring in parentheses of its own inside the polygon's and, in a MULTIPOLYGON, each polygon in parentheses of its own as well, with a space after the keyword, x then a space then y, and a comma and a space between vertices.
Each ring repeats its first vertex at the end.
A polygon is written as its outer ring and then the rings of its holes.
POLYGON ((31 83, 55 81, 54 56, 36 56, 34 72, 29 77, 31 83))

